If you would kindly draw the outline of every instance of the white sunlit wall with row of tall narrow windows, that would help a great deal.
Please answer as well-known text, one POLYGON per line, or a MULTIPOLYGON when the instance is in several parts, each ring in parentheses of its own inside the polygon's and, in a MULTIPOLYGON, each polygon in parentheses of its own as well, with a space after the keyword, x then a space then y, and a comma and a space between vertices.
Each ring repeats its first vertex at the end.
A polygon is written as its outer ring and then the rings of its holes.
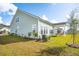
POLYGON ((45 22, 38 20, 38 34, 39 34, 38 37, 42 37, 42 35, 47 35, 47 36, 52 35, 50 33, 51 30, 53 30, 52 25, 46 24, 45 22), (45 30, 45 32, 44 32, 44 30, 45 30), (41 33, 41 31, 42 31, 42 33, 41 33))

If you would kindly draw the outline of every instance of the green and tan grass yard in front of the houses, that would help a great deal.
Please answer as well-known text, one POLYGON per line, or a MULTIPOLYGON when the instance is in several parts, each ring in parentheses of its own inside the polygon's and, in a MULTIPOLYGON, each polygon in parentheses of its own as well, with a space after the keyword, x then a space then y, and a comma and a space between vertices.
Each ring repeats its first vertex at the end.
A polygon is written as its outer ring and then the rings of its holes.
MULTIPOLYGON (((75 42, 79 44, 79 35, 75 42)), ((51 37, 47 42, 35 42, 19 36, 0 37, 1 56, 79 56, 79 48, 71 48, 71 35, 51 37)))

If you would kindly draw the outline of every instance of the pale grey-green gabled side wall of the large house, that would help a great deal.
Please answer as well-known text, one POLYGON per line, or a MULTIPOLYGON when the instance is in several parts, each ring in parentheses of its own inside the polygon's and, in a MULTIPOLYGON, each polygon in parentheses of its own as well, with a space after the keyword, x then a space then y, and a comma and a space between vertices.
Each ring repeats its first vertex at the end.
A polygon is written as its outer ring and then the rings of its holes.
POLYGON ((33 26, 38 32, 38 20, 34 17, 31 17, 20 10, 17 10, 12 24, 11 24, 11 33, 16 33, 20 36, 28 36, 29 32, 32 32, 33 26), (16 22, 16 18, 19 17, 19 21, 16 22))

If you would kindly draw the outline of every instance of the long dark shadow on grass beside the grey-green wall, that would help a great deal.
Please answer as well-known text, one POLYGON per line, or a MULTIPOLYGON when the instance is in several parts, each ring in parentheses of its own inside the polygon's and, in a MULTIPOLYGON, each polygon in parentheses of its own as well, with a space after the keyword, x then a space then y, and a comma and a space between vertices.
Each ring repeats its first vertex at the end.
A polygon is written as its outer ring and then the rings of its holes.
POLYGON ((31 41, 33 39, 26 38, 26 37, 20 37, 20 36, 0 36, 0 44, 10 44, 10 43, 16 43, 16 42, 27 42, 31 41))

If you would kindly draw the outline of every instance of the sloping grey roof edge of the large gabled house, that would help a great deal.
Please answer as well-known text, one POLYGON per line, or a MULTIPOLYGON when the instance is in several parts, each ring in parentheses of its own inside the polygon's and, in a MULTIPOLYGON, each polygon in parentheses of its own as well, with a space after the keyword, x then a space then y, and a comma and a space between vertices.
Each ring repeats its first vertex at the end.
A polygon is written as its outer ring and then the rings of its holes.
MULTIPOLYGON (((67 22, 51 23, 51 22, 49 22, 49 21, 47 21, 47 20, 44 20, 44 19, 40 18, 39 16, 36 16, 36 15, 33 15, 33 14, 29 13, 29 12, 23 11, 23 10, 21 10, 21 9, 19 9, 19 8, 16 10, 16 13, 17 13, 17 11, 20 11, 20 12, 22 12, 22 13, 24 13, 24 14, 27 14, 27 15, 29 15, 29 16, 31 16, 31 17, 33 17, 33 18, 36 18, 37 20, 42 21, 42 22, 44 22, 44 23, 46 23, 46 24, 49 24, 49 25, 51 25, 51 26, 67 23, 67 22)), ((16 15, 16 13, 15 13, 15 15, 16 15)), ((15 15, 14 15, 14 16, 15 16, 15 15)), ((13 17, 13 18, 14 18, 14 17, 13 17)), ((12 20, 12 21, 13 21, 13 20, 12 20)), ((11 23, 12 23, 12 22, 11 22, 11 23)), ((11 26, 11 24, 10 24, 10 26, 11 26)))

